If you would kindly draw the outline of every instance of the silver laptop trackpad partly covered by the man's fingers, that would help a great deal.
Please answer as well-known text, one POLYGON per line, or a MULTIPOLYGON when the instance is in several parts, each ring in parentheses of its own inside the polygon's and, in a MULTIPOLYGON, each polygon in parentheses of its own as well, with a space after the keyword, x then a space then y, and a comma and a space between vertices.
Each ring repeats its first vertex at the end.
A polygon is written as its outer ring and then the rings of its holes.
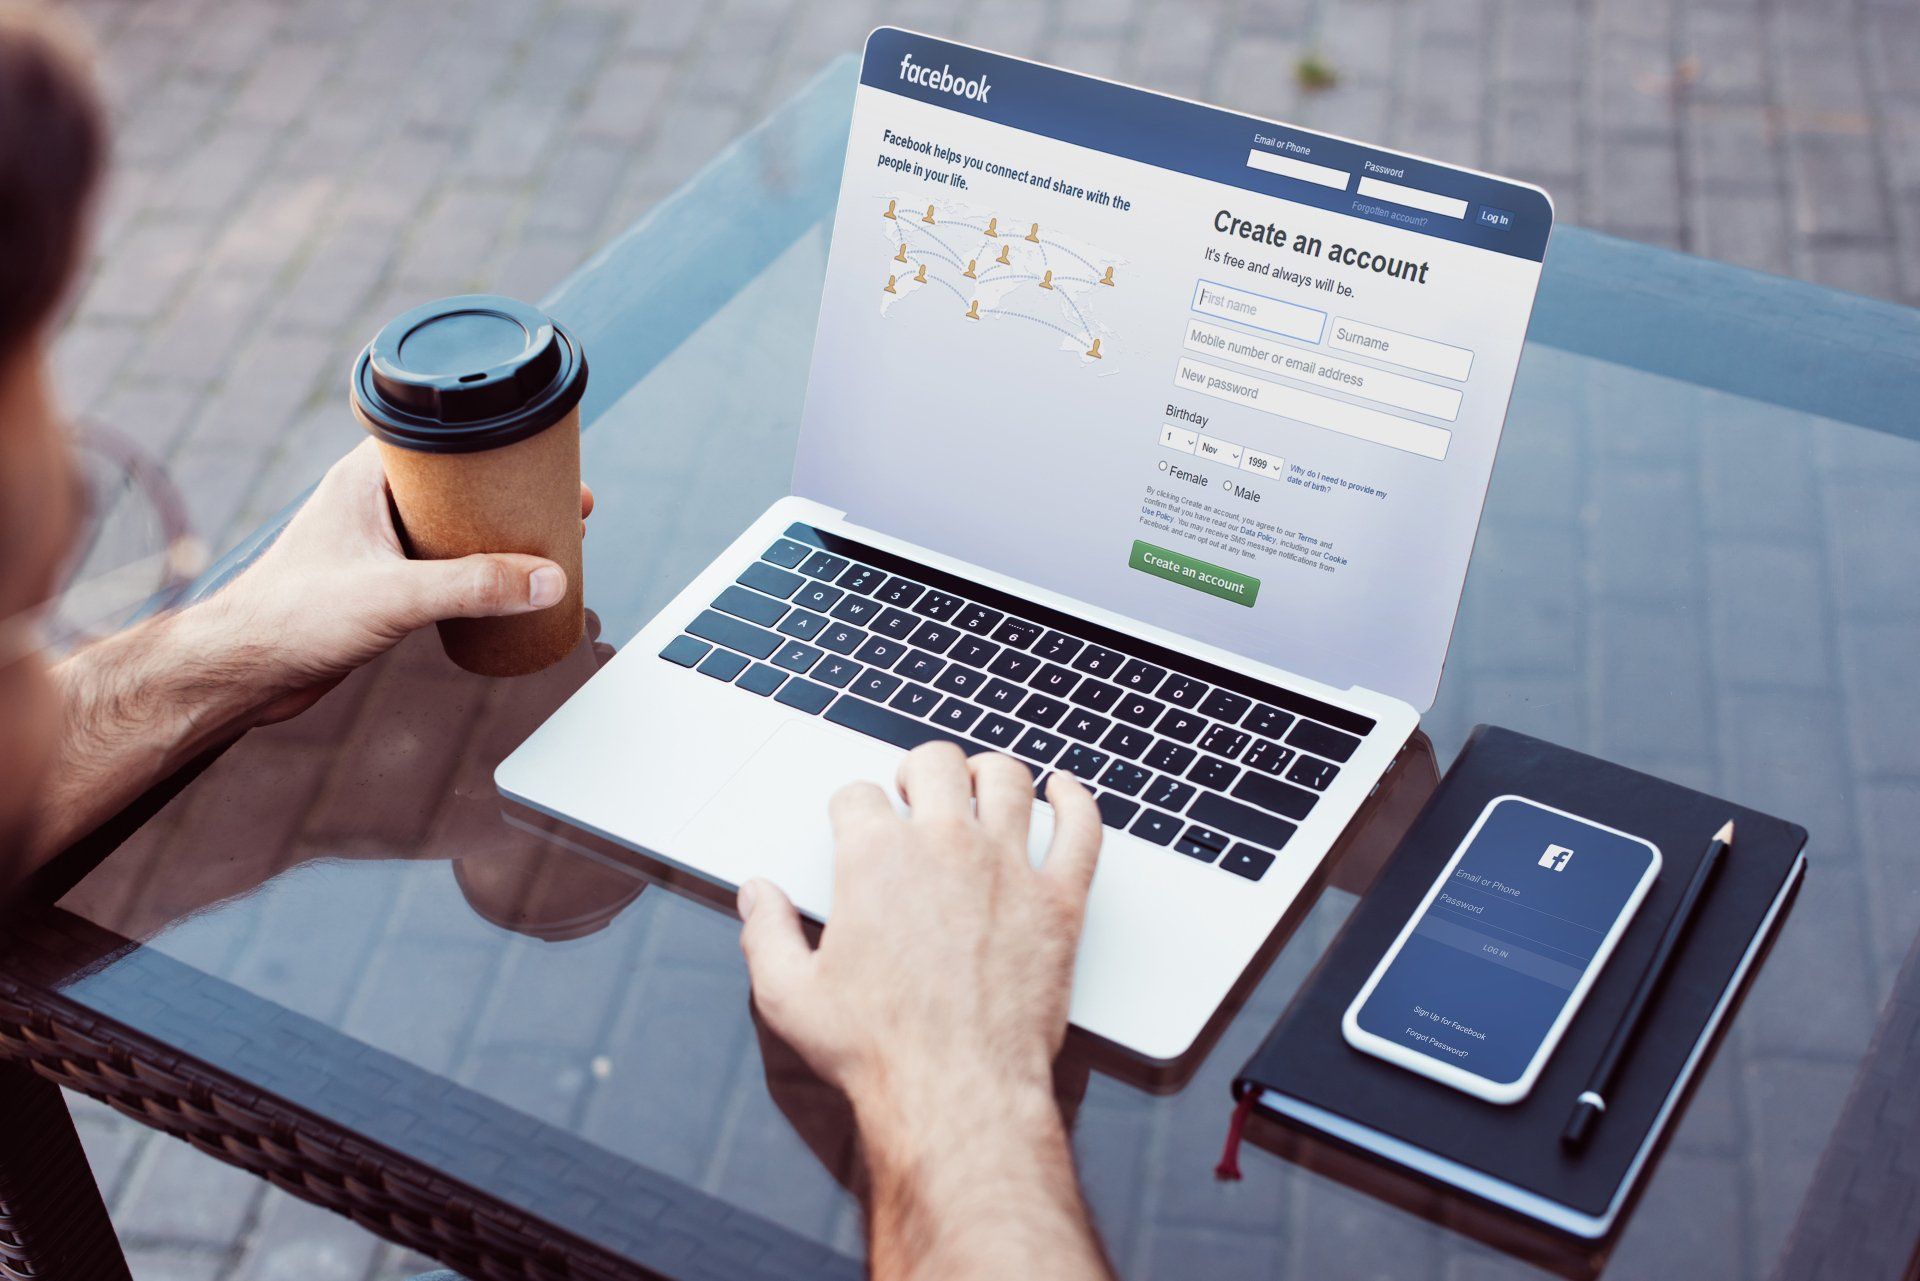
MULTIPOLYGON (((818 720, 781 726, 697 812, 670 851, 705 876, 739 885, 764 876, 801 912, 826 920, 833 901, 833 828, 828 797, 856 780, 879 784, 906 810, 893 780, 900 749, 818 720)), ((1052 835, 1052 809, 1033 807, 1029 853, 1052 835)))

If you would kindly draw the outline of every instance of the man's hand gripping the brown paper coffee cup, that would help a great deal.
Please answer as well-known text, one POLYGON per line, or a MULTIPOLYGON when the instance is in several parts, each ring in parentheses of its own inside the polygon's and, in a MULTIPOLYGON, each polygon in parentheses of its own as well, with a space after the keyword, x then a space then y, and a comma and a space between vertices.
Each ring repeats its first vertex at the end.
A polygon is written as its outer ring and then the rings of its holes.
MULTIPOLYGON (((580 515, 593 494, 580 486, 580 515)), ((442 618, 545 609, 566 570, 516 553, 409 561, 371 440, 332 465, 257 563, 188 611, 209 643, 232 643, 255 686, 255 722, 284 720, 340 680, 442 618)))

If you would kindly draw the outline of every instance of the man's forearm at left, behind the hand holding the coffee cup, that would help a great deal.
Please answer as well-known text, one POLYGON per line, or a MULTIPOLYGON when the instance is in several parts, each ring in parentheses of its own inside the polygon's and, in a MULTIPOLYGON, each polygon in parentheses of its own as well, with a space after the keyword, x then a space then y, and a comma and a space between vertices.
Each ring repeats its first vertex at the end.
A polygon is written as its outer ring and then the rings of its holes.
POLYGON ((196 755, 246 728, 259 701, 253 663, 219 626, 217 605, 150 618, 54 666, 60 743, 27 876, 196 755))

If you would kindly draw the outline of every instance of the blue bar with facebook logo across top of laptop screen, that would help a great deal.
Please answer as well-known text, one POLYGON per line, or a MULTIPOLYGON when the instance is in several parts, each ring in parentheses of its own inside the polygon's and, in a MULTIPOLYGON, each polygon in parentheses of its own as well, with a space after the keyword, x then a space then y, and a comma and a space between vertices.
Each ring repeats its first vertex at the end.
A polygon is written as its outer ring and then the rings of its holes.
POLYGON ((879 27, 860 83, 1315 209, 1542 261, 1544 192, 1091 75, 879 27))

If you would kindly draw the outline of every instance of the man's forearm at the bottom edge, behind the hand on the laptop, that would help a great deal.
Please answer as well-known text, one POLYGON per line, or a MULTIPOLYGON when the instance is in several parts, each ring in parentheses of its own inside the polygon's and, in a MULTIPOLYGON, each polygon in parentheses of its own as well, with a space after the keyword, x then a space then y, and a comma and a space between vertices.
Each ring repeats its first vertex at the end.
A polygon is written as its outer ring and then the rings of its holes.
MULTIPOLYGON (((952 1085, 929 1074, 925 1081, 952 1085)), ((872 1177, 872 1273, 1112 1277, 1044 1083, 856 1099, 872 1177), (918 1100, 916 1100, 918 1099, 918 1100)))

